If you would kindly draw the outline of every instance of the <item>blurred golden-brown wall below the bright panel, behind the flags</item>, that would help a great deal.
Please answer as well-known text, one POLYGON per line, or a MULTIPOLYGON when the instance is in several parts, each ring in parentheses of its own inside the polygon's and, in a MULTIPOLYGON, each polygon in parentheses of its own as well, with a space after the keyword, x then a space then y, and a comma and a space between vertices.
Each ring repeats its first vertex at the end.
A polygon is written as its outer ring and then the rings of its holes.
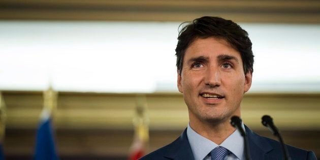
MULTIPOLYGON (((42 92, 4 91, 7 104, 5 153, 31 157, 43 106, 42 92)), ((64 159, 126 159, 133 138, 137 97, 146 96, 150 120, 149 151, 177 138, 188 123, 180 93, 113 94, 59 92, 54 114, 57 148, 64 159)), ((248 93, 242 119, 259 134, 271 137, 261 117, 270 114, 287 144, 320 155, 320 94, 248 93)))

